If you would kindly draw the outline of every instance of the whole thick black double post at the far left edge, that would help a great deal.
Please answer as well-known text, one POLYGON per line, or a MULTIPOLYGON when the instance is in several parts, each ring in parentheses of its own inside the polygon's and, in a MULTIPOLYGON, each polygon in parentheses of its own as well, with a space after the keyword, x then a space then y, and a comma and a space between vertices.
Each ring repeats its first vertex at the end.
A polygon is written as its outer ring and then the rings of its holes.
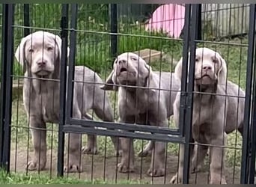
POLYGON ((1 76, 4 80, 1 88, 1 132, 3 139, 1 142, 1 167, 10 172, 10 124, 12 108, 12 72, 13 72, 13 23, 15 4, 3 4, 3 29, 4 48, 2 49, 2 70, 1 76), (4 39, 5 38, 5 39, 4 39), (5 92, 5 93, 4 93, 5 92))

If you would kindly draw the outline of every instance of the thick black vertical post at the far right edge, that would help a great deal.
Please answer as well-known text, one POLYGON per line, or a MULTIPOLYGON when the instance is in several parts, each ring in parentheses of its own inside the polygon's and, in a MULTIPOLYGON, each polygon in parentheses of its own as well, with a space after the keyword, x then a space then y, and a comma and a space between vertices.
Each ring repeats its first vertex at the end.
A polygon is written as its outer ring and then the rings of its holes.
POLYGON ((240 183, 248 183, 248 164, 249 164, 249 126, 251 117, 251 100, 252 100, 252 69, 253 57, 255 49, 255 4, 250 5, 249 17, 249 48, 247 56, 246 68, 246 102, 244 111, 244 125, 243 125, 243 145, 242 145, 242 163, 240 183))

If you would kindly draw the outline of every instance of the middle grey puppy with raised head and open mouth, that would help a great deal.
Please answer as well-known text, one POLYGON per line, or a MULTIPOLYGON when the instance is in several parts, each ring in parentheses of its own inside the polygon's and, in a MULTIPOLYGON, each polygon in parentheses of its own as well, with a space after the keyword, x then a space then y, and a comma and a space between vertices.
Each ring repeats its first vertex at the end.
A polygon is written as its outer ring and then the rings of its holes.
MULTIPOLYGON (((142 123, 151 126, 168 126, 168 117, 173 114, 172 103, 180 83, 173 73, 159 73, 138 55, 125 52, 118 55, 114 70, 106 83, 118 85, 118 113, 121 123, 142 123), (124 85, 138 88, 125 88, 124 85), (159 91, 159 89, 163 89, 159 91), (171 90, 171 92, 170 92, 171 90)), ((103 86, 105 90, 116 90, 112 86, 103 86)), ((118 171, 134 171, 133 141, 121 138, 122 158, 118 171)), ((150 141, 140 155, 151 154, 150 168, 147 174, 160 177, 165 174, 165 143, 150 141)))

